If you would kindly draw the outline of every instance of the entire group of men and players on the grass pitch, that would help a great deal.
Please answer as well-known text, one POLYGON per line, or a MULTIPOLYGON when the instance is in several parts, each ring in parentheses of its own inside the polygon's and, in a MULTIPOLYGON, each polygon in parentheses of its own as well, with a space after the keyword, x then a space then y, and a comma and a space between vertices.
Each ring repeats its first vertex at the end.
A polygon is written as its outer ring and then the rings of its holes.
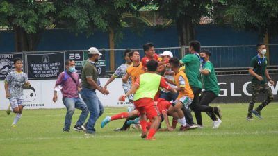
MULTIPOLYGON (((189 43, 189 53, 181 60, 173 57, 170 51, 157 55, 152 43, 144 44, 143 49, 145 57, 142 60, 139 51, 126 49, 124 52, 126 63, 117 68, 104 87, 101 87, 96 67, 102 55, 98 49, 95 47, 88 49, 88 60, 81 73, 81 83, 79 83, 79 75, 75 72, 74 60, 65 61, 65 71, 58 76, 53 97, 53 101, 56 102, 57 92, 61 90, 63 103, 67 108, 63 132, 70 132, 72 115, 74 109, 78 108, 82 112, 74 125, 74 130, 85 130, 85 135, 94 134, 95 123, 104 113, 104 107, 96 95, 96 90, 101 94, 109 94, 107 86, 115 78, 120 77, 122 77, 125 94, 120 96, 119 100, 125 101, 127 97, 134 107, 129 112, 106 116, 101 122, 101 128, 113 120, 126 119, 123 127, 116 131, 127 130, 129 125, 136 123, 140 124, 142 138, 154 140, 156 131, 163 130, 161 128, 163 120, 167 125, 165 130, 168 131, 174 130, 177 123, 181 124, 179 128, 181 131, 203 128, 201 112, 208 114, 213 121, 213 128, 219 128, 222 123, 220 107, 208 105, 220 92, 213 64, 209 61, 211 52, 201 50, 198 41, 189 43), (193 121, 191 110, 195 113, 197 124, 193 121), (85 122, 89 113, 89 119, 85 122), (172 116, 172 125, 168 116, 172 116)), ((249 69, 253 76, 253 96, 248 108, 248 120, 252 119, 252 114, 261 118, 261 110, 273 99, 267 84, 269 82, 273 85, 274 82, 266 69, 265 44, 258 44, 257 51, 258 55, 252 58, 249 69), (268 98, 253 110, 259 92, 263 92, 268 98)), ((22 72, 22 60, 15 58, 14 64, 15 71, 10 72, 5 79, 6 98, 10 99, 12 110, 17 114, 13 126, 22 114, 23 87, 30 85, 26 74, 22 72)), ((10 114, 9 110, 7 110, 8 114, 10 114)))

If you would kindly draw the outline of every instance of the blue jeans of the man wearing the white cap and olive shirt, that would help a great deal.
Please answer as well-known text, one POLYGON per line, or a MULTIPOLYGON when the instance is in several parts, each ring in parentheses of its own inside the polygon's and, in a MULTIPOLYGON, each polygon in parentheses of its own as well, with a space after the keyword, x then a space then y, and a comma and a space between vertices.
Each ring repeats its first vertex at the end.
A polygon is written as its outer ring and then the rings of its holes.
POLYGON ((88 110, 90 111, 90 118, 87 123, 87 132, 94 133, 95 132, 95 123, 99 116, 104 113, 104 106, 102 106, 99 98, 96 95, 95 90, 83 88, 81 90, 81 97, 83 101, 86 103, 88 110))

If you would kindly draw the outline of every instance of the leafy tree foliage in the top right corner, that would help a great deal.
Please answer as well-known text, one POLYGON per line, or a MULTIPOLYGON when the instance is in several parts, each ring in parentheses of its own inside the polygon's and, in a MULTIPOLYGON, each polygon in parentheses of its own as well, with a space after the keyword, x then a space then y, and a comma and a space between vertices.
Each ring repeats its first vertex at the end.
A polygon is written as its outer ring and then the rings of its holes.
POLYGON ((277 0, 227 0, 225 17, 236 28, 253 30, 260 35, 278 33, 277 0))

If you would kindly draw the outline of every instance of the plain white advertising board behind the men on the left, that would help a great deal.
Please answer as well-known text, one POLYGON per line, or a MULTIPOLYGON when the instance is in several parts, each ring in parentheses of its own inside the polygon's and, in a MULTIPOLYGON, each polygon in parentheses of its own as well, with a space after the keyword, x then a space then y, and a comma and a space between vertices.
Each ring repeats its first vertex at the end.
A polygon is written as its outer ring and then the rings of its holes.
MULTIPOLYGON (((101 85, 105 85, 108 78, 101 78, 101 85)), ((24 109, 40 109, 40 108, 63 108, 62 94, 58 92, 58 101, 54 103, 52 97, 54 95, 54 85, 56 80, 30 80, 32 87, 24 89, 24 109)), ((0 82, 0 110, 6 110, 9 105, 8 99, 5 98, 5 89, 3 81, 0 82)), ((124 94, 122 89, 122 78, 115 80, 108 85, 109 95, 103 95, 97 92, 97 96, 105 107, 130 107, 131 103, 118 101, 120 95, 124 94)))

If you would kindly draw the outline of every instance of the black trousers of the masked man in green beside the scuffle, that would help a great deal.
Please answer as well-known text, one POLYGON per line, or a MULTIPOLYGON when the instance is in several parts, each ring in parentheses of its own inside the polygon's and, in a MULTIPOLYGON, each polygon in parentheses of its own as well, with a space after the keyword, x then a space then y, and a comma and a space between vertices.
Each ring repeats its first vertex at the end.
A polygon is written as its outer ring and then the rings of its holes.
MULTIPOLYGON (((206 105, 208 106, 209 103, 211 103, 217 96, 211 92, 211 91, 204 91, 201 93, 201 96, 199 97, 199 105, 206 105)), ((211 118, 212 121, 217 120, 217 117, 212 112, 206 112, 208 116, 211 118)))

